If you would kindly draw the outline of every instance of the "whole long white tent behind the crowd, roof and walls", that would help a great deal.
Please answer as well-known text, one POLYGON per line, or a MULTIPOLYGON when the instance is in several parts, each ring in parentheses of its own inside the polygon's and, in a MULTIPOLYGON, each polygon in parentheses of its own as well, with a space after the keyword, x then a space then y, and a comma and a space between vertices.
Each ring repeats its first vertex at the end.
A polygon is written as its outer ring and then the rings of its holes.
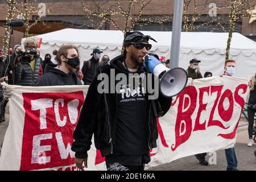
MULTIPOLYGON (((150 41, 152 49, 159 56, 170 57, 172 32, 142 31, 150 35, 158 43, 150 41)), ((42 58, 63 44, 73 44, 79 47, 81 65, 90 59, 94 48, 100 48, 103 55, 110 59, 118 56, 122 48, 123 33, 112 30, 77 30, 66 28, 36 36, 42 38, 42 58)), ((226 42, 228 33, 214 32, 181 32, 179 67, 187 69, 189 60, 201 60, 201 72, 210 71, 213 75, 223 72, 226 42)), ((23 39, 24 41, 24 39, 23 39)), ((233 33, 230 58, 237 61, 237 71, 234 76, 251 77, 256 72, 256 42, 245 36, 233 33)))

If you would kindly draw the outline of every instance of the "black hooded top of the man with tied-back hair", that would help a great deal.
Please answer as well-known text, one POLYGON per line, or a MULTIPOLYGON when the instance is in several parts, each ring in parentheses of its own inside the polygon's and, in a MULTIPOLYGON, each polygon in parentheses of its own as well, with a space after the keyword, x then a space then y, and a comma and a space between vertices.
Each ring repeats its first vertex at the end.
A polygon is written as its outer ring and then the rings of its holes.
POLYGON ((35 86, 82 85, 75 73, 67 75, 55 67, 56 64, 47 64, 44 75, 39 78, 35 86))

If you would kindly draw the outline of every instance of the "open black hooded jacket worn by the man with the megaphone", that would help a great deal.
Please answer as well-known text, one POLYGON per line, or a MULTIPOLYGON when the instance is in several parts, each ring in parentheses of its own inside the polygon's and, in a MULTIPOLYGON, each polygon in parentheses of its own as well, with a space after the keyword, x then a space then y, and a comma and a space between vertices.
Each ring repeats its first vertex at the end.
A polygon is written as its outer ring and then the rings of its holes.
MULTIPOLYGON (((113 152, 115 143, 115 123, 117 122, 117 93, 98 93, 97 86, 101 81, 97 80, 100 73, 105 73, 110 77, 110 69, 115 69, 117 73, 127 73, 122 65, 123 56, 115 57, 110 63, 99 67, 96 77, 88 89, 84 105, 81 110, 79 122, 73 134, 75 142, 72 144, 72 150, 76 152, 77 158, 86 158, 87 151, 92 144, 92 135, 94 134, 94 144, 101 150, 102 156, 107 156, 113 152)), ((117 82, 115 83, 117 84, 117 82)), ((110 88, 110 87, 109 87, 110 88)), ((156 125, 156 116, 152 109, 152 101, 147 103, 147 138, 148 147, 156 147, 158 130, 156 125)), ((171 107, 172 98, 165 98, 159 92, 158 101, 162 106, 163 114, 166 114, 171 107)), ((156 106, 156 109, 159 107, 156 106)))

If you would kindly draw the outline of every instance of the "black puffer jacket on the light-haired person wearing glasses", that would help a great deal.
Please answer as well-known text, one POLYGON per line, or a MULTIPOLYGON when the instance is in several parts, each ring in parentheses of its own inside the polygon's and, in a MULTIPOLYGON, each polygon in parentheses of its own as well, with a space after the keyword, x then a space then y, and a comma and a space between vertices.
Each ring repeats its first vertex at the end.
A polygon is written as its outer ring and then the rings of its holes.
POLYGON ((39 56, 35 57, 35 71, 32 72, 30 64, 22 63, 21 66, 16 65, 15 69, 15 84, 21 86, 34 86, 39 78, 39 71, 41 65, 41 59, 39 56))

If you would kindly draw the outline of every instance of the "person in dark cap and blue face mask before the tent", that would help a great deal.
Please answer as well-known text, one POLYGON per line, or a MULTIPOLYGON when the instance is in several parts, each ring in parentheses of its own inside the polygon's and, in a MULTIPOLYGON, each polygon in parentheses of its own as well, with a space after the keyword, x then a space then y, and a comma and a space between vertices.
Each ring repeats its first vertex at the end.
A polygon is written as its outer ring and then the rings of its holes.
POLYGON ((92 83, 92 80, 97 73, 97 68, 100 65, 101 53, 102 51, 100 51, 100 49, 94 49, 93 53, 90 54, 92 58, 88 61, 84 61, 84 64, 82 65, 82 74, 84 75, 84 78, 82 78, 82 81, 84 81, 85 85, 90 85, 92 83))

